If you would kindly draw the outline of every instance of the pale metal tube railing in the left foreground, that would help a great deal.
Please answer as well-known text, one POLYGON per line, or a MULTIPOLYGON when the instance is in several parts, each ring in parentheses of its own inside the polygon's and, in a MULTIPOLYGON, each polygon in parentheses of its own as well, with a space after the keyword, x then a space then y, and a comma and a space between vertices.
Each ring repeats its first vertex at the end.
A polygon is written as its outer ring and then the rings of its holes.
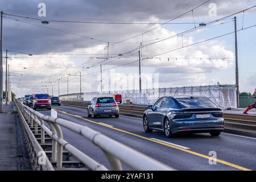
POLYGON ((34 170, 122 170, 122 163, 134 170, 175 170, 87 126, 43 115, 18 100, 14 103, 34 170), (109 169, 68 143, 61 128, 99 147, 109 162, 109 169))

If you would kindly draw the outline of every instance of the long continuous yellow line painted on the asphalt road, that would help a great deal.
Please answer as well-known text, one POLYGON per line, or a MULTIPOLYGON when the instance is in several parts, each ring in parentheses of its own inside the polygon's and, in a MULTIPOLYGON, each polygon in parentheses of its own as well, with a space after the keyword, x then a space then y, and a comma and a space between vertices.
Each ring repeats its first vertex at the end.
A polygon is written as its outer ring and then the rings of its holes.
POLYGON ((90 119, 85 119, 85 118, 82 118, 82 117, 78 117, 78 116, 76 116, 76 115, 69 114, 69 113, 64 112, 64 111, 60 111, 60 110, 57 110, 57 109, 55 109, 55 110, 56 110, 56 111, 59 111, 60 113, 63 113, 63 114, 72 115, 73 117, 80 118, 80 119, 83 119, 83 120, 85 120, 85 121, 89 121, 89 122, 94 123, 94 124, 96 124, 96 125, 101 125, 101 126, 109 127, 110 129, 117 130, 117 131, 121 131, 122 133, 126 133, 126 134, 129 134, 129 135, 133 135, 133 136, 135 136, 135 137, 142 138, 142 139, 145 139, 145 140, 149 140, 149 141, 151 141, 151 142, 159 143, 159 144, 162 144, 162 145, 167 146, 167 147, 175 148, 175 149, 177 149, 177 150, 184 151, 184 152, 187 152, 187 153, 189 153, 189 154, 193 154, 193 155, 196 155, 196 156, 200 156, 201 158, 214 160, 214 161, 216 161, 216 162, 218 162, 218 163, 222 163, 222 164, 225 164, 225 165, 230 166, 230 167, 233 167, 233 168, 241 169, 241 170, 243 170, 243 171, 251 171, 251 169, 248 169, 248 168, 245 168, 245 167, 241 167, 241 166, 238 166, 238 165, 236 165, 236 164, 232 164, 232 163, 226 162, 226 161, 224 161, 224 160, 215 159, 215 158, 212 158, 212 157, 207 156, 207 155, 203 155, 203 154, 200 154, 200 153, 197 153, 197 152, 193 152, 193 151, 191 151, 191 150, 187 150, 187 149, 180 148, 180 147, 177 147, 177 146, 172 146, 171 144, 163 143, 163 142, 160 142, 160 141, 158 141, 158 140, 151 139, 151 138, 143 137, 142 135, 130 133, 129 131, 117 129, 117 128, 112 127, 112 126, 107 126, 107 125, 104 125, 104 124, 101 124, 101 123, 92 121, 92 120, 90 120, 90 119))

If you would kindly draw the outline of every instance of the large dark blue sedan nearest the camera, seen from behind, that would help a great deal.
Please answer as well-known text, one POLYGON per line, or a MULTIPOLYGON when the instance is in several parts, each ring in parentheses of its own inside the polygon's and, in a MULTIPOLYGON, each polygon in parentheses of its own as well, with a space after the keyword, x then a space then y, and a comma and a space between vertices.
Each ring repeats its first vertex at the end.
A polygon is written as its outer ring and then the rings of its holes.
POLYGON ((147 133, 160 130, 166 137, 176 133, 218 136, 224 130, 222 109, 204 96, 161 97, 147 108, 143 114, 143 127, 147 133))

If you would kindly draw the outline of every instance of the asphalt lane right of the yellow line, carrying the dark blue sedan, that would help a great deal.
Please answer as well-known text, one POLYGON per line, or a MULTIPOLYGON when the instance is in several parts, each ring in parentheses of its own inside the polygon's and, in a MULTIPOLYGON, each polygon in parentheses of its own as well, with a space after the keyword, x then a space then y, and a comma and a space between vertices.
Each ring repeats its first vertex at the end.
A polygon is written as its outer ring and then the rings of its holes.
MULTIPOLYGON (((57 109, 58 107, 56 107, 57 109)), ((79 107, 62 106, 61 110, 86 118, 86 110, 79 107)), ((256 169, 256 150, 255 140, 237 137, 234 135, 221 134, 220 137, 210 137, 209 134, 183 134, 175 138, 166 138, 159 131, 144 133, 142 119, 120 116, 120 118, 100 117, 93 121, 106 123, 118 129, 133 132, 147 138, 160 139, 163 141, 179 144, 191 148, 192 151, 200 154, 209 155, 209 152, 216 152, 217 158, 226 160, 250 169, 256 169)))

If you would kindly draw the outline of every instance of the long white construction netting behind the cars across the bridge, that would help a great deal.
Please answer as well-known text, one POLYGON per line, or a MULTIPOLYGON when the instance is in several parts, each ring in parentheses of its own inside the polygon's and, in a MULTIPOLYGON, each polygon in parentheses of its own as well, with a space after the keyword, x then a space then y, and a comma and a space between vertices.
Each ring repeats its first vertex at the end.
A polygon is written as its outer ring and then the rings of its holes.
MULTIPOLYGON (((159 88, 159 89, 144 89, 141 90, 121 90, 112 92, 86 92, 81 99, 84 101, 91 101, 93 97, 111 96, 113 94, 121 94, 122 102, 126 103, 126 100, 130 100, 133 104, 154 104, 159 97, 193 94, 206 96, 212 100, 216 105, 222 109, 228 107, 237 107, 236 99, 236 87, 233 85, 209 85, 209 86, 184 86, 177 88, 159 88)), ((64 99, 67 97, 72 100, 77 100, 78 96, 73 94, 72 96, 62 96, 64 99)))

